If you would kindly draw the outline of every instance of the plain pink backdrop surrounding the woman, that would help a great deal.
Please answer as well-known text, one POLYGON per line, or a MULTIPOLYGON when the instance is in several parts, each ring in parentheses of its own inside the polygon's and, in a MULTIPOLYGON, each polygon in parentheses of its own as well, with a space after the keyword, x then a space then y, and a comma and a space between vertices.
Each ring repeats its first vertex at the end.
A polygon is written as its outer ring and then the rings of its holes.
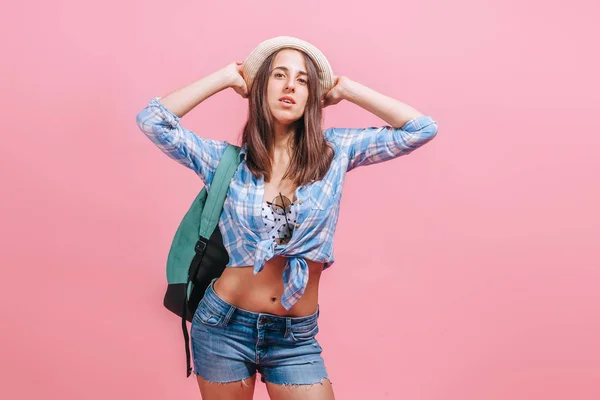
MULTIPOLYGON (((199 398, 162 296, 200 182, 135 116, 278 35, 440 126, 348 175, 320 298, 336 397, 600 398, 597 2, 36 3, 0 17, 0 398, 199 398)), ((235 141, 245 117, 227 90, 183 123, 235 141)))

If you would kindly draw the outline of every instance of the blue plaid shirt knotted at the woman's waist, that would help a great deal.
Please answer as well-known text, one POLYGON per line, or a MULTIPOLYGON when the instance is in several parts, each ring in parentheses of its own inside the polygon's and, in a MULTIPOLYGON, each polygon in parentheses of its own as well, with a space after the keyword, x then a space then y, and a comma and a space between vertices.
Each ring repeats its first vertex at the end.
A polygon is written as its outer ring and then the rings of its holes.
MULTIPOLYGON (((227 142, 203 138, 180 124, 180 118, 153 98, 139 112, 137 125, 165 154, 192 169, 207 189, 227 142)), ((302 296, 308 282, 306 259, 334 262, 335 232, 346 172, 409 154, 437 134, 436 122, 421 116, 402 128, 329 128, 324 131, 335 156, 325 177, 295 190, 296 226, 290 241, 277 244, 263 221, 264 177, 255 177, 246 162, 246 146, 233 176, 219 220, 223 244, 229 253, 228 267, 253 266, 254 274, 275 256, 284 256, 284 292, 281 304, 289 310, 302 296)), ((269 200, 269 199, 267 199, 269 200)))

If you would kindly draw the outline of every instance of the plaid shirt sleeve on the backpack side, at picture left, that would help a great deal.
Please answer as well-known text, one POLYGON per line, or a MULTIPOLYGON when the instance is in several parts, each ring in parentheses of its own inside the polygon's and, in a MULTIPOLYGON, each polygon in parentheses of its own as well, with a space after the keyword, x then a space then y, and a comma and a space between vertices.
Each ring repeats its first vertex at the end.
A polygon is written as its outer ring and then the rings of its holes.
POLYGON ((202 138, 184 128, 159 99, 153 98, 138 113, 138 127, 163 153, 192 169, 209 186, 227 142, 202 138))

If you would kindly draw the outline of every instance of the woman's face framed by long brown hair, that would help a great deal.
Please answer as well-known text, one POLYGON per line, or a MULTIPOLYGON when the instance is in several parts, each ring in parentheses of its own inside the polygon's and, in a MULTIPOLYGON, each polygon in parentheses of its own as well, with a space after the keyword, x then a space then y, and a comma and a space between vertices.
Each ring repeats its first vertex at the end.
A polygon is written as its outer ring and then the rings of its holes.
POLYGON ((267 83, 271 114, 280 124, 290 125, 302 117, 307 100, 308 75, 304 57, 298 50, 284 49, 273 59, 267 83))

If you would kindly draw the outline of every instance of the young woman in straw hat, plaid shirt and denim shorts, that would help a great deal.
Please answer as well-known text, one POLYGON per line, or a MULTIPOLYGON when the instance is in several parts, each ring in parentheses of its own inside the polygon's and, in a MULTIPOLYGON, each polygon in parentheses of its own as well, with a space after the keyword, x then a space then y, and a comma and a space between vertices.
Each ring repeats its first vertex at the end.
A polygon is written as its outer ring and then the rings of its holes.
POLYGON ((408 154, 437 124, 347 77, 333 76, 310 43, 277 37, 164 97, 137 116, 140 129, 210 189, 227 143, 198 136, 180 118, 226 88, 249 100, 241 163, 219 220, 228 268, 213 280, 191 328, 202 398, 251 399, 256 372, 271 399, 333 399, 315 339, 321 272, 333 264, 345 174, 408 154), (387 124, 321 128, 341 100, 387 124))

